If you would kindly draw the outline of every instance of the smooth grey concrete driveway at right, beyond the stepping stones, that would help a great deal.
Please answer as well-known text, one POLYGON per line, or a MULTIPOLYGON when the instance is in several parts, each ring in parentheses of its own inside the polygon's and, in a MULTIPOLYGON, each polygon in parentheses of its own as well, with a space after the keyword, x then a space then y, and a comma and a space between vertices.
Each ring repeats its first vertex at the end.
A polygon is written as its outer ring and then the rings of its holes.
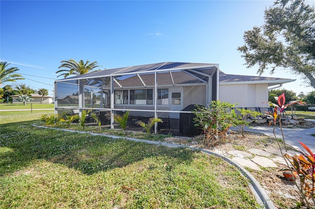
MULTIPOLYGON (((315 123, 315 120, 312 120, 312 122, 315 123)), ((234 128, 234 130, 236 129, 234 128)), ((303 149, 301 144, 298 142, 298 141, 301 141, 304 144, 306 144, 312 150, 312 152, 315 153, 315 136, 311 135, 311 134, 315 134, 315 128, 312 128, 312 129, 283 128, 282 130, 284 132, 285 142, 288 145, 297 146, 303 149)), ((252 128, 245 127, 244 131, 258 132, 258 133, 266 134, 267 136, 270 136, 273 138, 275 137, 273 133, 273 127, 259 127, 259 126, 253 126, 252 128)), ((282 133, 279 127, 276 127, 275 133, 278 139, 282 139, 282 133)))

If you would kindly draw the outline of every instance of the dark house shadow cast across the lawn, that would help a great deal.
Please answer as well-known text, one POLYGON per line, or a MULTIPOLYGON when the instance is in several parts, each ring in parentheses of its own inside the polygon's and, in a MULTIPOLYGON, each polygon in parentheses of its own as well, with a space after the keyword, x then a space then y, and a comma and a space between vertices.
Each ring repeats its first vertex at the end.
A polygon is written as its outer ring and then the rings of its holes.
POLYGON ((1 126, 0 175, 23 169, 44 159, 94 174, 120 168, 150 157, 163 157, 176 165, 191 163, 194 152, 183 148, 169 148, 112 139, 82 133, 69 133, 32 127, 38 120, 9 123, 1 126))

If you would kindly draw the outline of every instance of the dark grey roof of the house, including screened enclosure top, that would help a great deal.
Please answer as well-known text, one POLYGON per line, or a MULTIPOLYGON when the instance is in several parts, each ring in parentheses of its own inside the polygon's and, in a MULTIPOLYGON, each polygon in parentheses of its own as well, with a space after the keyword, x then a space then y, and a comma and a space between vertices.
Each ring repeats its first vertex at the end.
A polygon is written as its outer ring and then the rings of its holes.
MULTIPOLYGON (((86 78, 102 78, 109 76, 123 76, 123 75, 134 75, 141 74, 141 79, 137 76, 132 76, 118 82, 122 87, 126 86, 154 86, 155 71, 158 73, 158 84, 159 85, 179 85, 189 83, 202 83, 207 81, 207 76, 213 75, 217 69, 218 64, 212 63, 186 63, 186 62, 160 62, 153 64, 129 66, 122 68, 106 69, 102 71, 96 71, 85 75, 78 75, 70 78, 63 78, 57 81, 66 80, 77 80, 86 78), (171 73, 165 73, 165 72, 171 73), (161 73, 164 72, 164 73, 161 73), (197 73, 198 72, 198 73, 197 73)), ((232 75, 225 74, 220 71, 219 83, 220 84, 245 84, 245 83, 268 83, 268 86, 277 84, 287 83, 295 81, 295 79, 287 78, 272 78, 272 77, 261 77, 261 76, 243 76, 243 75, 232 75)), ((115 83, 115 87, 119 85, 115 83)))

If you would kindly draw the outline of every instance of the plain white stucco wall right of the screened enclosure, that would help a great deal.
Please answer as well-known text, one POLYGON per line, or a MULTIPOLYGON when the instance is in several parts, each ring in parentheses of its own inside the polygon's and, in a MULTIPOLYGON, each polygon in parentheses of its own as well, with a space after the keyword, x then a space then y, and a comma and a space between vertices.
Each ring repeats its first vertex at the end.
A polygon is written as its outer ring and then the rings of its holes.
POLYGON ((236 107, 268 107, 268 84, 220 84, 219 100, 236 107))

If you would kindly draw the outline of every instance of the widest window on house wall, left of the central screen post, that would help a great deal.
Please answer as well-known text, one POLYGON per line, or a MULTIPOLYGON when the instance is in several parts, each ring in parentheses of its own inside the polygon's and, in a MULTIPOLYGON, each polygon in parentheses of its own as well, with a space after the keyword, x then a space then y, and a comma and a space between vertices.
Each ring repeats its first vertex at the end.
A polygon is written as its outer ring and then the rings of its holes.
POLYGON ((130 104, 153 104, 153 89, 130 90, 130 104))

